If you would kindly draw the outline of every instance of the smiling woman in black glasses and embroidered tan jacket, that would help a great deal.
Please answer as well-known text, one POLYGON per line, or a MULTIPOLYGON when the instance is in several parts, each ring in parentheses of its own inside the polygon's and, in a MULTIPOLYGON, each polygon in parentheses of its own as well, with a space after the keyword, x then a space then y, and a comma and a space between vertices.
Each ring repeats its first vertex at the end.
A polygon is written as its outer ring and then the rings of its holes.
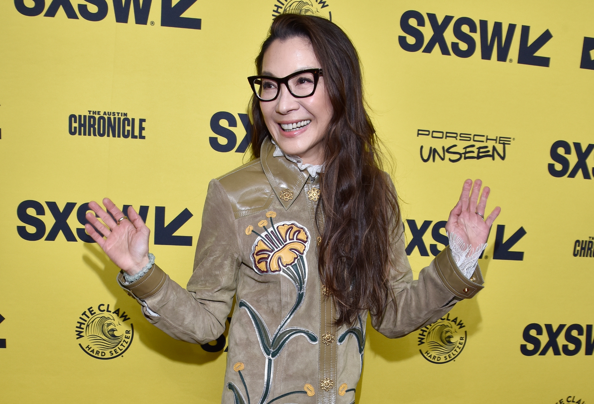
POLYGON ((481 181, 466 180, 446 226, 451 248, 413 280, 346 34, 324 18, 280 15, 256 67, 254 159, 210 182, 187 289, 154 264, 132 207, 128 219, 105 198, 114 221, 91 202, 109 229, 93 214, 106 238, 86 229, 147 320, 176 339, 219 337, 235 296, 223 403, 352 403, 368 313, 402 337, 474 296, 500 209, 483 220, 489 188, 478 201, 481 181))

